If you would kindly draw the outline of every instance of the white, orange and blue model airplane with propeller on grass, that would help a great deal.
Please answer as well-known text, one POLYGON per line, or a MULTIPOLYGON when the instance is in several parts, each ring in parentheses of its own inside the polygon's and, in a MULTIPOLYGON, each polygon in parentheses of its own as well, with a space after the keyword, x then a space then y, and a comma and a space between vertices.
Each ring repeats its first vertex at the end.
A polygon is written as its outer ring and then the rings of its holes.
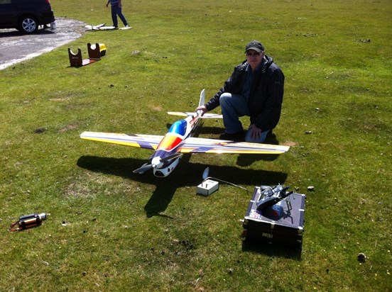
MULTIPOLYGON (((199 106, 205 104, 205 90, 200 94, 199 106)), ((202 124, 203 118, 222 118, 222 115, 196 111, 168 112, 170 115, 185 116, 171 125, 166 135, 139 135, 83 132, 80 137, 85 140, 108 142, 131 147, 141 147, 155 150, 148 162, 134 173, 143 174, 153 169, 153 174, 158 177, 168 176, 178 165, 184 153, 235 153, 235 154, 282 154, 290 147, 282 145, 268 145, 249 142, 234 142, 229 140, 206 139, 192 137, 195 130, 202 124)))

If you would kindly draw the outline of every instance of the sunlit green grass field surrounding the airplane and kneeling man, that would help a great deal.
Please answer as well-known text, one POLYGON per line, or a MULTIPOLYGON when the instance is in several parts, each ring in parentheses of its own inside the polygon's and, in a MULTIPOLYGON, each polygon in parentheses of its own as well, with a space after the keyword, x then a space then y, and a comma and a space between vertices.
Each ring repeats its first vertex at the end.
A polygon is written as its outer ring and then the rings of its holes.
MULTIPOLYGON (((106 1, 51 4, 111 24, 106 1)), ((123 5, 132 30, 86 33, 0 71, 0 291, 391 291, 392 2, 123 5), (284 155, 185 156, 158 179, 132 173, 148 150, 80 139, 163 135, 176 119, 166 112, 212 96, 252 39, 285 74, 284 155), (86 54, 87 43, 107 55, 69 67, 67 47, 86 54), (242 242, 250 193, 220 184, 198 196, 207 166, 249 191, 305 193, 302 252, 242 242), (29 213, 50 215, 9 232, 29 213)), ((200 137, 223 130, 207 120, 200 137)))

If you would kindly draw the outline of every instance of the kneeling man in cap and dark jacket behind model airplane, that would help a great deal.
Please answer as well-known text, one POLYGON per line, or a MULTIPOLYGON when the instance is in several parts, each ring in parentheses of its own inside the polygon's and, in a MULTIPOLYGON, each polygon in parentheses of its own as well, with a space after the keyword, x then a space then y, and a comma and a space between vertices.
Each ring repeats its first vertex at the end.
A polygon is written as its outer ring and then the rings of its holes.
POLYGON ((220 139, 262 143, 281 117, 285 77, 258 40, 246 45, 245 55, 222 89, 196 111, 204 114, 221 106, 225 131, 220 139), (241 116, 250 116, 246 135, 241 116))

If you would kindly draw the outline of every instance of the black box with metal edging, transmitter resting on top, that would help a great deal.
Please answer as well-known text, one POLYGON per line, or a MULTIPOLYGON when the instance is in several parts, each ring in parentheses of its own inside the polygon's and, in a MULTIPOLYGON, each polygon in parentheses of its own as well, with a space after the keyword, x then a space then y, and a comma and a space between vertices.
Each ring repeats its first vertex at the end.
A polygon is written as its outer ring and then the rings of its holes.
POLYGON ((256 186, 244 218, 244 240, 302 249, 305 195, 293 193, 262 211, 256 205, 260 196, 256 186))

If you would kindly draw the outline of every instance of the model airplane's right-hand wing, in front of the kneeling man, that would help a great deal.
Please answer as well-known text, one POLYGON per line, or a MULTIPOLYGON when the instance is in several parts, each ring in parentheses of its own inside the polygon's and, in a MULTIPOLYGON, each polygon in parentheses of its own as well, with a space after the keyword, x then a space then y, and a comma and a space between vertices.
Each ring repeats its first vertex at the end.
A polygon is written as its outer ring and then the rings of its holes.
POLYGON ((229 140, 189 137, 181 145, 181 153, 236 153, 236 154, 282 154, 289 146, 261 143, 234 142, 229 140))

